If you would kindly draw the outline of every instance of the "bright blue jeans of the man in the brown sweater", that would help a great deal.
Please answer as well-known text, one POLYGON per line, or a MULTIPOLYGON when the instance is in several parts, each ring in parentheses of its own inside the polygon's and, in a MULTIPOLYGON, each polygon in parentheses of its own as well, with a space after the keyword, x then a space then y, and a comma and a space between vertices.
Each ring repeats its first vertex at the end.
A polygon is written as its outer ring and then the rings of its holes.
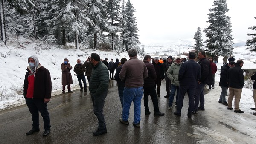
POLYGON ((134 103, 134 123, 138 124, 140 122, 140 106, 141 106, 141 98, 143 95, 143 87, 137 88, 128 88, 124 89, 124 107, 122 118, 124 121, 128 121, 130 114, 131 102, 134 103))

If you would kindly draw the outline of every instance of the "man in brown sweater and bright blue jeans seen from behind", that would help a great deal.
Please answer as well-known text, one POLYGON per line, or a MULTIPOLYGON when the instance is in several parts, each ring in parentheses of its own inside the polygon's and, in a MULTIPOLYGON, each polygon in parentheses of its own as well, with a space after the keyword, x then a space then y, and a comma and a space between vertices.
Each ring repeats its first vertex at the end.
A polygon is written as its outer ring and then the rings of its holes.
POLYGON ((134 103, 134 127, 140 127, 140 106, 143 95, 143 81, 148 76, 148 70, 145 63, 137 58, 136 49, 128 50, 130 59, 124 63, 120 72, 121 81, 125 81, 124 89, 124 107, 122 118, 119 121, 123 124, 129 124, 129 110, 131 102, 134 103))

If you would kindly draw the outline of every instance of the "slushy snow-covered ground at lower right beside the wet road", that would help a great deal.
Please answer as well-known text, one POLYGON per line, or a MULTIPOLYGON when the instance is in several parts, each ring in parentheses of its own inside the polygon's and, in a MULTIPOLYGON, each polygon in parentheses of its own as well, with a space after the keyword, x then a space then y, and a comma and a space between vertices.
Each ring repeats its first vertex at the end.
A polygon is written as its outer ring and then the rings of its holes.
MULTIPOLYGON (((218 63, 219 65, 219 63, 218 63)), ((244 113, 237 114, 218 103, 221 87, 218 86, 220 71, 215 74, 215 89, 205 94, 205 111, 198 111, 207 120, 209 127, 193 126, 197 136, 204 136, 200 144, 253 144, 256 138, 256 116, 252 115, 254 106, 253 91, 242 89, 239 107, 244 113)), ((208 88, 208 86, 206 86, 208 88)), ((228 95, 228 93, 227 93, 228 95)), ((226 96, 226 99, 228 96, 226 96)), ((234 108, 234 99, 233 105, 234 108)), ((193 117, 193 115, 192 115, 193 117)), ((200 138, 201 139, 201 138, 200 138)))

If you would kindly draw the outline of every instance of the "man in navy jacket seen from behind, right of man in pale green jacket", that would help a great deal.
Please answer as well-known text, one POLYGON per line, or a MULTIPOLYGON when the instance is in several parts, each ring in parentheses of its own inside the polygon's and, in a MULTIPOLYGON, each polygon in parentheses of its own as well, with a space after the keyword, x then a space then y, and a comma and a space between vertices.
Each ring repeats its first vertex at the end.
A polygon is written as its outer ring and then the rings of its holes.
POLYGON ((201 74, 201 67, 194 60, 195 55, 195 52, 189 52, 189 60, 180 66, 178 78, 180 81, 178 107, 177 111, 174 112, 174 114, 178 116, 181 116, 181 109, 183 107, 183 100, 186 92, 189 97, 189 118, 191 117, 194 108, 195 89, 201 74))

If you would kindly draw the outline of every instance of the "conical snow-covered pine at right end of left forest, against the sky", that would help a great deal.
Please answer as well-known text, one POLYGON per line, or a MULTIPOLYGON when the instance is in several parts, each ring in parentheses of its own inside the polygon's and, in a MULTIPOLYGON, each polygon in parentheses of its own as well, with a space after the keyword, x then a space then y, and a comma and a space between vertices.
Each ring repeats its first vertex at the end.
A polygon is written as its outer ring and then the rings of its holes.
POLYGON ((123 29, 122 40, 125 46, 125 50, 131 48, 138 49, 137 44, 140 44, 138 37, 138 27, 136 17, 134 17, 135 9, 131 4, 130 0, 125 5, 125 10, 122 10, 122 21, 121 26, 123 29))

